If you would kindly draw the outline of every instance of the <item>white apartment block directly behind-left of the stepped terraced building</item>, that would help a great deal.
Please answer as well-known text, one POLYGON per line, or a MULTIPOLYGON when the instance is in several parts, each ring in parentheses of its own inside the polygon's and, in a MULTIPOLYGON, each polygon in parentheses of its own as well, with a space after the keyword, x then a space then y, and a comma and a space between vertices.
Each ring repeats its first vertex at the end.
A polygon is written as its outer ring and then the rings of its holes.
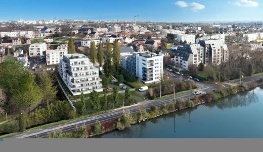
POLYGON ((55 50, 47 50, 46 59, 47 65, 54 65, 60 62, 64 54, 68 54, 68 45, 62 44, 55 50))

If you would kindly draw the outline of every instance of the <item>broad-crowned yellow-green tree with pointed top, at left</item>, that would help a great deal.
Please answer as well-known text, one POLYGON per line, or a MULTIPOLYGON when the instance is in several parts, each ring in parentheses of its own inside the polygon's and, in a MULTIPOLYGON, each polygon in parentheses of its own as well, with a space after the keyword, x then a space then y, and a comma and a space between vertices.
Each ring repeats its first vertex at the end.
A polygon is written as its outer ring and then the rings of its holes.
POLYGON ((30 73, 28 73, 27 77, 25 83, 16 91, 15 100, 21 107, 27 107, 30 114, 31 108, 40 103, 42 92, 30 73))

